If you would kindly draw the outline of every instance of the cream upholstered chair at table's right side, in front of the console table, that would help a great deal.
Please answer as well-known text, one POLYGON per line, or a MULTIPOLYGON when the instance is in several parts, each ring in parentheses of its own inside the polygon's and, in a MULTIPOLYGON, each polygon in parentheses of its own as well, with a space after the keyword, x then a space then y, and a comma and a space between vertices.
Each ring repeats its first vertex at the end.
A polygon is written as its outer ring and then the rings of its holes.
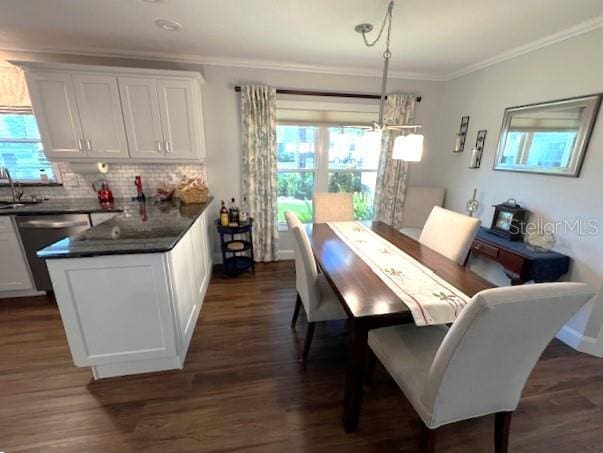
POLYGON ((434 206, 421 231, 419 242, 463 264, 479 225, 480 221, 475 217, 434 206))

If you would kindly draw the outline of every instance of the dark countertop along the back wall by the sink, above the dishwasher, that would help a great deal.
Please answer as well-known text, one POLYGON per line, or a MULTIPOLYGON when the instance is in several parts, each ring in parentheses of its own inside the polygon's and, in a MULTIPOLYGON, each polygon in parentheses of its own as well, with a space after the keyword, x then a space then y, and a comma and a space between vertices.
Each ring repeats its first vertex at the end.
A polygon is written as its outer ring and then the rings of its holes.
POLYGON ((50 215, 50 214, 89 214, 92 212, 121 212, 123 206, 131 203, 127 198, 117 199, 111 204, 101 205, 97 198, 72 198, 65 200, 47 200, 41 203, 26 204, 13 209, 0 209, 2 215, 50 215))

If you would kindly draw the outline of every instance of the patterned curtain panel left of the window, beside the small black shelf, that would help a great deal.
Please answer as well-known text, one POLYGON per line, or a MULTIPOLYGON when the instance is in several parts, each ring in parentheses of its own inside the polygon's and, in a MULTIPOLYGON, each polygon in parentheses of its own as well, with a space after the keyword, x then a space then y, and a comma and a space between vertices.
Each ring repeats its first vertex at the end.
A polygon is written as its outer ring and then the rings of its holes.
POLYGON ((241 87, 243 196, 254 219, 256 261, 278 261, 276 90, 241 87))

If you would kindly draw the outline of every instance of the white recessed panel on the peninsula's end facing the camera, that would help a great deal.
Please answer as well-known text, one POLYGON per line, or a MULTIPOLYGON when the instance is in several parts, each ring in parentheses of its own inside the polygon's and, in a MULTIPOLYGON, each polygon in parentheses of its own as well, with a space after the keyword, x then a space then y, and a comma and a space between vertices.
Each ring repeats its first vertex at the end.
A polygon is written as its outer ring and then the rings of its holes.
POLYGON ((47 265, 77 366, 176 355, 162 254, 57 259, 47 265))

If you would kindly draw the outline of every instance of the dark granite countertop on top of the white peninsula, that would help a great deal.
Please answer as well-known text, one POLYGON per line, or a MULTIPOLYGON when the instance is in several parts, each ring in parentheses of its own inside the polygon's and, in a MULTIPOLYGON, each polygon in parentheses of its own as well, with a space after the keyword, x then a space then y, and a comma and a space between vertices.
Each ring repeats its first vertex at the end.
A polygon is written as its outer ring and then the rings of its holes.
POLYGON ((54 259, 167 252, 211 201, 212 198, 203 204, 181 205, 178 200, 161 203, 122 200, 116 203, 123 211, 121 214, 39 250, 38 256, 54 259))

